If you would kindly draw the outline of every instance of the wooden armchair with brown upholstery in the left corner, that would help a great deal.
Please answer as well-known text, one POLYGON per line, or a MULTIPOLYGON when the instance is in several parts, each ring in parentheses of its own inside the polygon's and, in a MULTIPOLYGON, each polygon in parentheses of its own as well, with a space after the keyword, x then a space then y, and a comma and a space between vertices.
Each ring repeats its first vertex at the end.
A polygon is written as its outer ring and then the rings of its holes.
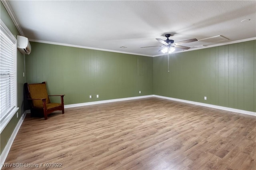
POLYGON ((47 115, 54 111, 62 111, 62 114, 64 114, 64 95, 48 95, 45 82, 25 83, 24 88, 32 115, 43 113, 44 120, 47 120, 47 115), (49 96, 60 96, 61 103, 51 103, 49 96))

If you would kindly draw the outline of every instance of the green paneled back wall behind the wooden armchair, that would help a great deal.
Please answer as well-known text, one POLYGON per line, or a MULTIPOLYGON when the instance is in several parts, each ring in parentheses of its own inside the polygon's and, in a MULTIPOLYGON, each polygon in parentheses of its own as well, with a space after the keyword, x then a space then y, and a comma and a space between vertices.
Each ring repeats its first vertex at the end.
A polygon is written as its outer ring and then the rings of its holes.
POLYGON ((30 43, 26 81, 46 81, 49 94, 66 95, 65 105, 153 94, 152 57, 30 43))

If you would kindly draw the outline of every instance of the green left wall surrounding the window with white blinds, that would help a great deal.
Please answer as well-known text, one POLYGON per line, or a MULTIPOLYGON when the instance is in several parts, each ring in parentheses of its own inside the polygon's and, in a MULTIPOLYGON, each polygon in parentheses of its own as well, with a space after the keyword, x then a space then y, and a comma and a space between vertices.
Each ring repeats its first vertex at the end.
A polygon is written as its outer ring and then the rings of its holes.
MULTIPOLYGON (((12 32, 14 37, 16 38, 17 35, 20 35, 18 32, 16 26, 12 22, 12 19, 10 18, 8 12, 4 8, 4 5, 2 2, 0 2, 0 18, 4 22, 4 24, 8 27, 8 29, 12 32)), ((17 87, 18 87, 18 118, 16 117, 16 114, 14 117, 10 120, 8 125, 4 128, 4 130, 0 134, 0 153, 2 154, 2 151, 4 150, 4 147, 6 146, 10 136, 12 135, 12 132, 14 128, 16 127, 18 121, 20 120, 20 117, 24 113, 23 109, 23 85, 24 85, 24 54, 20 53, 17 50, 17 87)))

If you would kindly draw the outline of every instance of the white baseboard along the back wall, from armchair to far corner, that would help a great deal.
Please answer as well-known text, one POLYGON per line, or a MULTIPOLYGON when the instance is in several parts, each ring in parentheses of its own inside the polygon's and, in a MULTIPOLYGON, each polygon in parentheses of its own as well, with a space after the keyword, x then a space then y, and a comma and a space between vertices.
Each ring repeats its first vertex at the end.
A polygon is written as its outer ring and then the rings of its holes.
POLYGON ((121 98, 121 99, 92 101, 92 102, 87 102, 87 103, 77 103, 77 104, 72 104, 72 105, 64 105, 64 108, 80 107, 80 106, 87 106, 87 105, 96 105, 96 104, 101 104, 101 103, 110 103, 110 102, 126 101, 126 100, 133 100, 133 99, 142 99, 142 98, 153 97, 153 96, 154 95, 146 95, 146 96, 138 96, 138 97, 127 97, 127 98, 121 98))

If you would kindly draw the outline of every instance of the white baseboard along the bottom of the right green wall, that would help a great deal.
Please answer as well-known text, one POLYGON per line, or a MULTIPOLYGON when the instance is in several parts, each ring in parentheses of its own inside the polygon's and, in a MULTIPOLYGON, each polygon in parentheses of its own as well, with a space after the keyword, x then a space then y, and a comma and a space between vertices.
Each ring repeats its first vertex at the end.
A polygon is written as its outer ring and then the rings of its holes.
POLYGON ((195 102, 195 101, 188 101, 188 100, 182 100, 182 99, 176 99, 176 98, 172 98, 172 97, 165 97, 165 96, 158 96, 158 95, 153 95, 153 97, 158 97, 158 98, 168 99, 168 100, 173 100, 173 101, 180 101, 180 102, 190 103, 190 104, 194 104, 194 105, 200 105, 200 106, 211 107, 211 108, 215 108, 215 109, 221 109, 221 110, 224 110, 224 111, 231 111, 231 112, 256 116, 256 112, 244 111, 244 110, 240 110, 240 109, 233 109, 233 108, 230 108, 230 107, 210 105, 210 104, 206 104, 206 103, 200 103, 200 102, 195 102))

